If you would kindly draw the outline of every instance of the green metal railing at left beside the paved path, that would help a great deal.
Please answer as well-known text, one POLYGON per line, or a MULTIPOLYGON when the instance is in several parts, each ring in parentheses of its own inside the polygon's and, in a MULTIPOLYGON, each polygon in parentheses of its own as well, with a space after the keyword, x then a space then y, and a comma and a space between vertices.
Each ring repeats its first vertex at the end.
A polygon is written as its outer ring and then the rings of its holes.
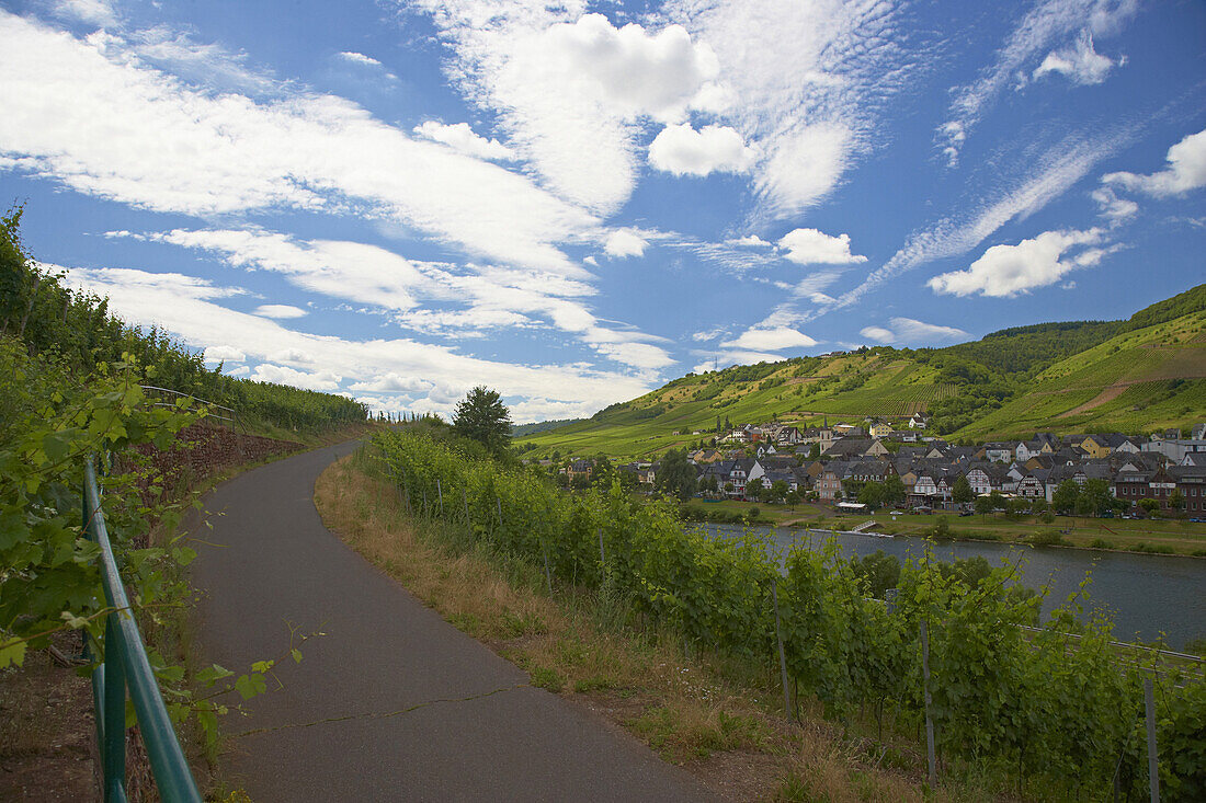
POLYGON ((163 704, 159 685, 147 661, 142 635, 134 621, 122 576, 113 559, 113 547, 105 529, 96 473, 92 461, 83 468, 83 526, 100 546, 100 573, 110 612, 105 617, 105 658, 92 672, 96 744, 100 748, 105 803, 125 801, 125 690, 142 729, 147 757, 159 796, 164 801, 195 801, 201 796, 185 761, 185 754, 163 704))

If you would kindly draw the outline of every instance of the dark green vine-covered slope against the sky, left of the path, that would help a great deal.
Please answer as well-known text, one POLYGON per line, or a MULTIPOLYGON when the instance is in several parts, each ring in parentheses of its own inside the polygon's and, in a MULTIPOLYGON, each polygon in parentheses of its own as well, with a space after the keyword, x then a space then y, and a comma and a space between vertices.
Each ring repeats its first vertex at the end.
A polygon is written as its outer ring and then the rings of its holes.
POLYGON ((242 424, 264 434, 315 432, 368 416, 363 404, 341 395, 210 370, 200 352, 166 333, 129 326, 110 313, 106 299, 69 289, 63 276, 27 253, 19 209, 0 217, 0 346, 24 352, 31 361, 25 370, 54 371, 72 382, 133 354, 148 369, 148 383, 233 408, 242 424))

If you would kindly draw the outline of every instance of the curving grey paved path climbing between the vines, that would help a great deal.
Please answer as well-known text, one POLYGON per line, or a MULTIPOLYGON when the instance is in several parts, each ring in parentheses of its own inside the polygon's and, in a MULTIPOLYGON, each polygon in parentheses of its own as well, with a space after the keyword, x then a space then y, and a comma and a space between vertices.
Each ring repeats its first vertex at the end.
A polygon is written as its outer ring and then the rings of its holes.
POLYGON ((287 662, 283 690, 248 703, 253 716, 228 719, 229 733, 263 728, 233 739, 228 776, 257 803, 710 798, 636 740, 526 686, 523 672, 332 535, 314 482, 352 447, 219 486, 206 500, 213 529, 194 527, 213 544, 193 563, 206 664, 241 673, 285 652, 286 621, 327 633, 300 666, 287 662))

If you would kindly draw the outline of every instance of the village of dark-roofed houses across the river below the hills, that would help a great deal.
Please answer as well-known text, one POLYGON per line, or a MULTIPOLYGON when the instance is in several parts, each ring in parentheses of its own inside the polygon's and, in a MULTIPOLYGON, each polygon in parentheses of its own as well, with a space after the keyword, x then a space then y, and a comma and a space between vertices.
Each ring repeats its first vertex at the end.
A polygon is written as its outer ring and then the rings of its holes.
POLYGON ((1077 512, 1084 515, 1206 520, 1206 423, 1147 436, 1038 432, 1029 440, 973 446, 929 435, 927 426, 925 414, 896 426, 882 418, 808 428, 742 424, 690 433, 710 435, 708 445, 658 461, 611 465, 602 456, 558 461, 555 455, 538 463, 568 487, 598 485, 614 471, 628 487, 683 500, 967 512, 984 499, 980 509, 991 500, 989 510, 1043 512, 1072 511, 1081 499, 1077 512), (668 470, 675 474, 669 482, 668 470))

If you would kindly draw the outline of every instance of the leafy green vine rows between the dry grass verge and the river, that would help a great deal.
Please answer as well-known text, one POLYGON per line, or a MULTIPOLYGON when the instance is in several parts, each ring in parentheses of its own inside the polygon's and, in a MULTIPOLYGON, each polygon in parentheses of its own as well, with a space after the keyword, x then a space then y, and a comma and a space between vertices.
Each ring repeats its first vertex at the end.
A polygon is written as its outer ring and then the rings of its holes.
MULTIPOLYGON (((889 608, 867 598, 833 544, 794 549, 780 569, 760 539, 710 539, 684 528, 672 505, 617 487, 568 496, 537 474, 406 432, 373 444, 415 515, 461 522, 475 540, 543 568, 550 588, 608 587, 701 649, 767 664, 777 661, 778 610, 791 681, 838 721, 870 709, 897 732, 919 732, 925 622, 946 767, 1013 778, 1019 790, 1041 781, 1044 797, 1105 799, 1116 783, 1146 793, 1146 672, 1118 662, 1110 621, 1078 625, 1088 580, 1048 627, 1025 631, 1014 626, 1034 621, 1038 599, 1005 593, 1009 567, 972 590, 926 556, 903 567, 889 608)), ((1165 799, 1204 799, 1206 682, 1151 674, 1165 799)))

